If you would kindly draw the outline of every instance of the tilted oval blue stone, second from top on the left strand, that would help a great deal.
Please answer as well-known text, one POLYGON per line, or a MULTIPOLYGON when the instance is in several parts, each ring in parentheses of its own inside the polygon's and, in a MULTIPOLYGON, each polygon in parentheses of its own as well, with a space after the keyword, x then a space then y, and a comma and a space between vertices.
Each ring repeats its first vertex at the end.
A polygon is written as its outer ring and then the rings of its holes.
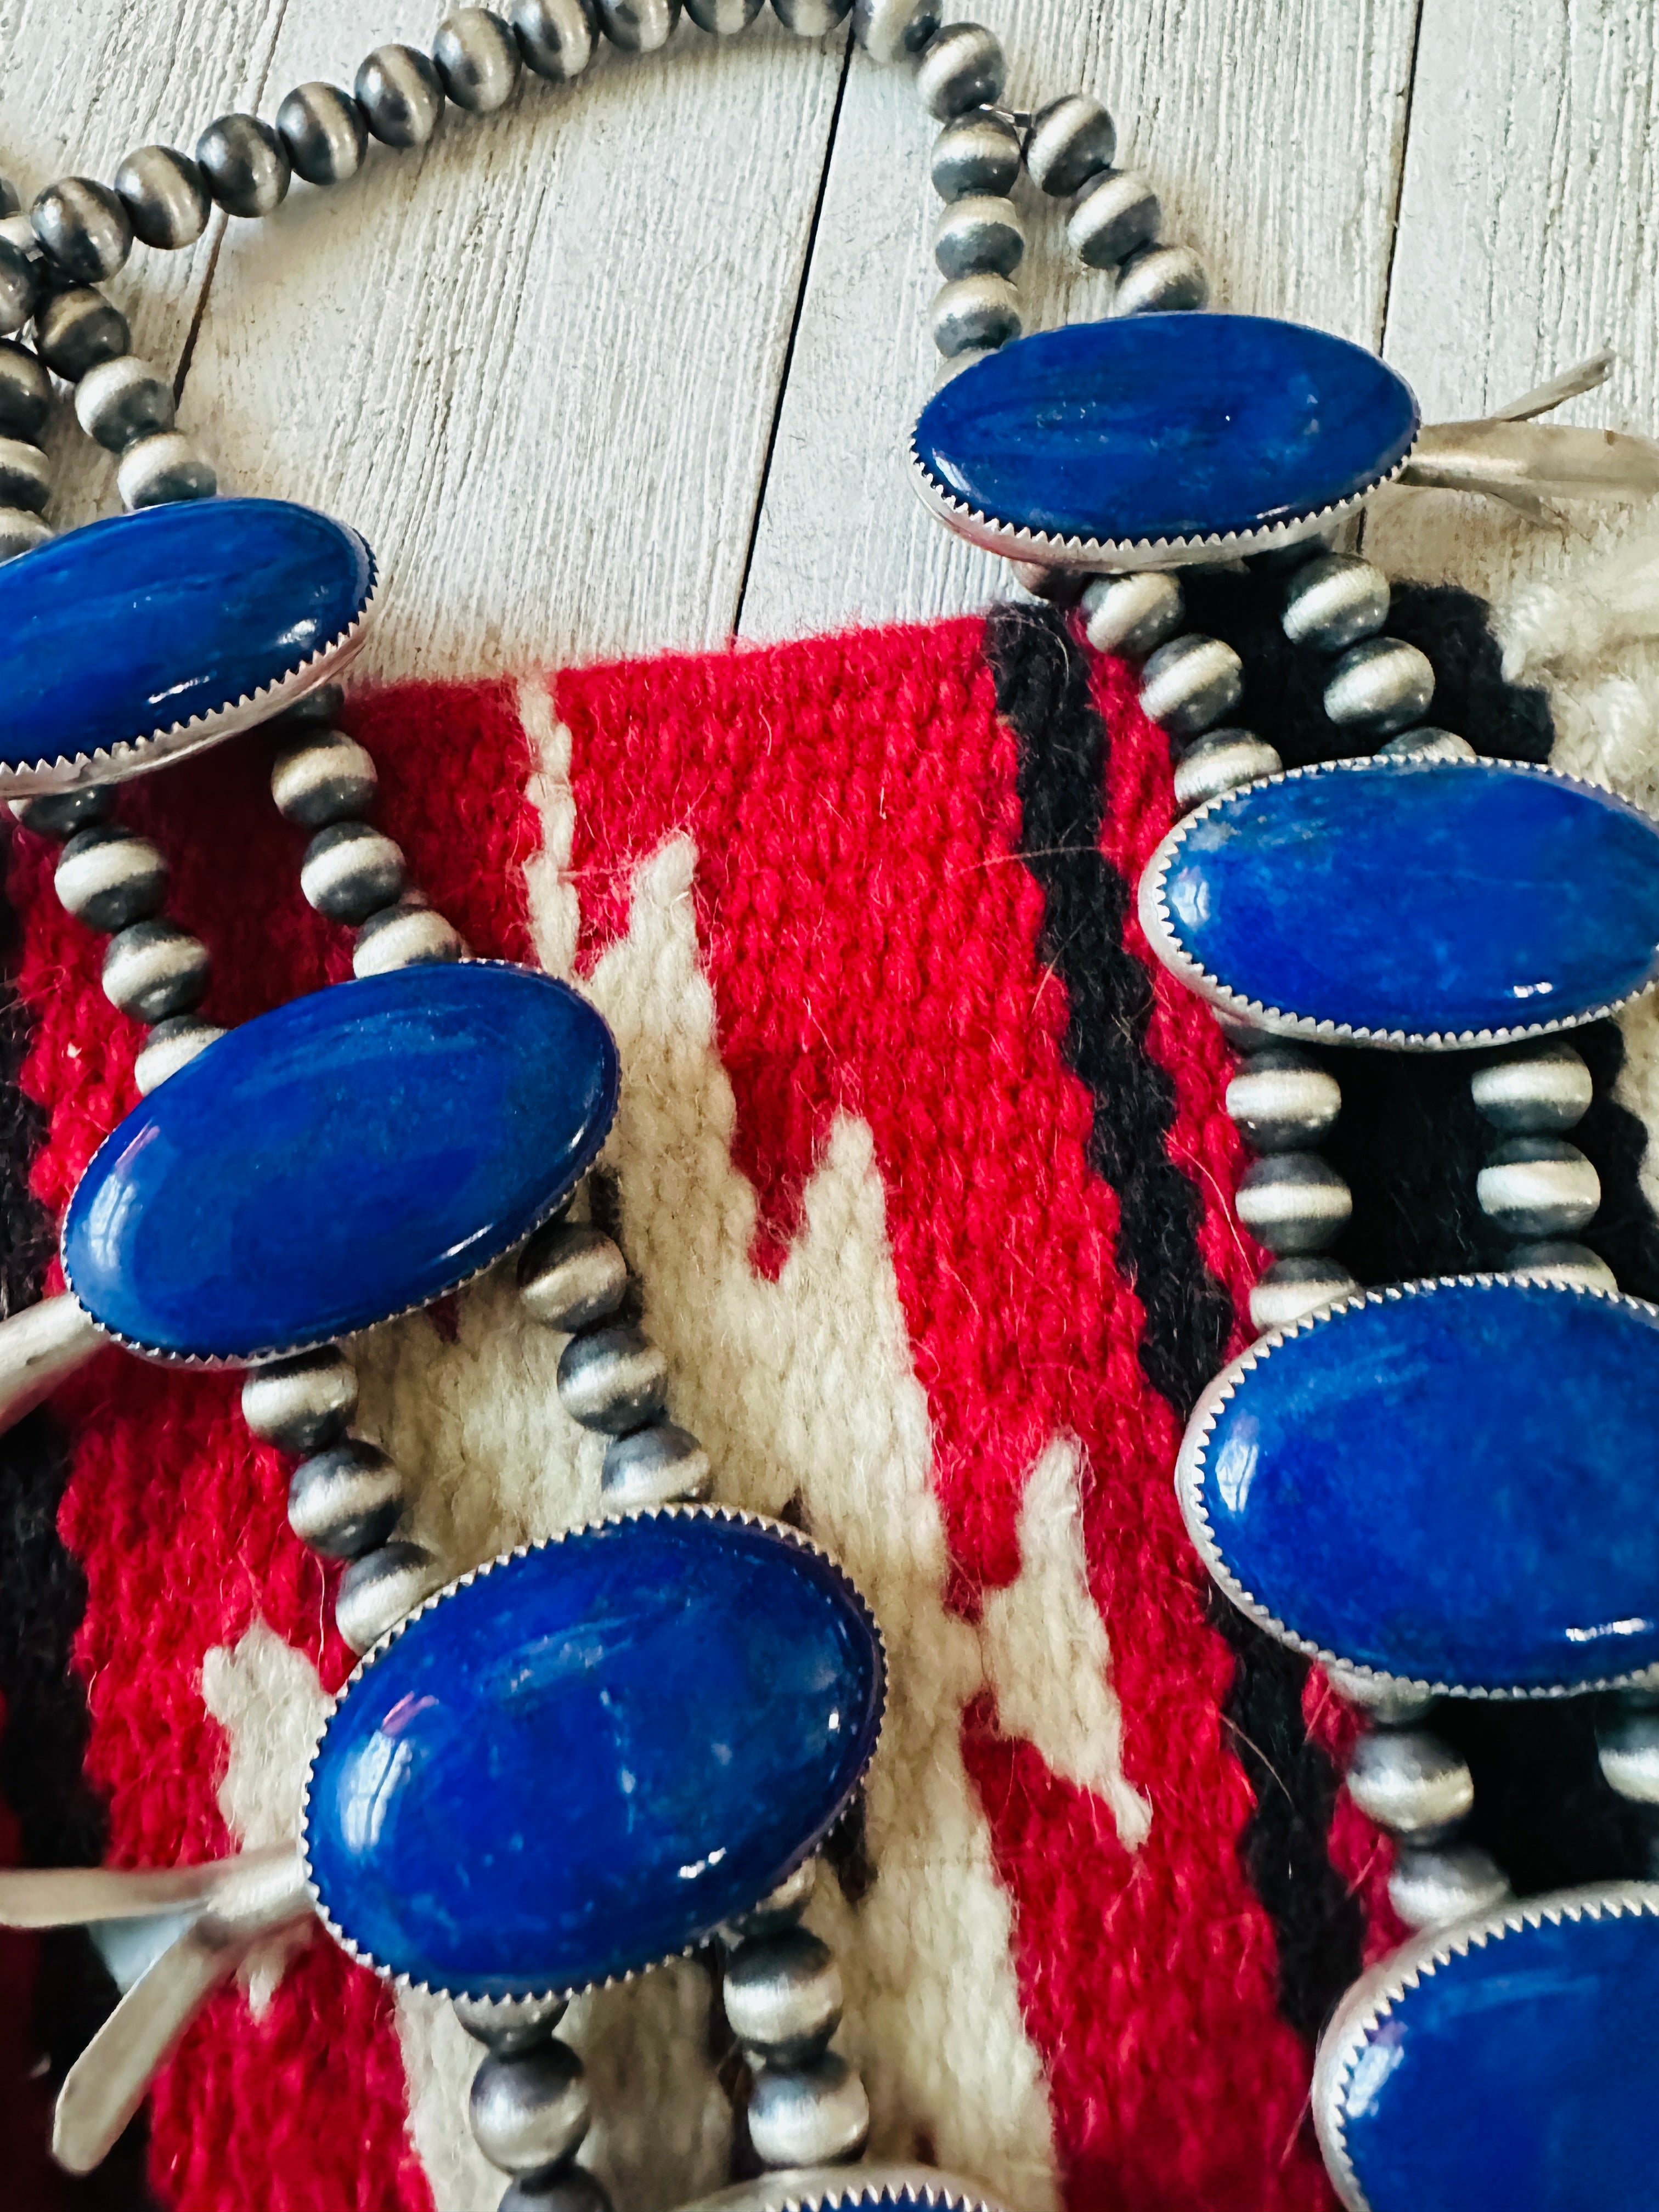
POLYGON ((615 1102, 611 1031, 551 975, 467 960, 332 984, 133 1108, 69 1201, 64 1276, 159 1358, 332 1343, 520 1243, 615 1102))

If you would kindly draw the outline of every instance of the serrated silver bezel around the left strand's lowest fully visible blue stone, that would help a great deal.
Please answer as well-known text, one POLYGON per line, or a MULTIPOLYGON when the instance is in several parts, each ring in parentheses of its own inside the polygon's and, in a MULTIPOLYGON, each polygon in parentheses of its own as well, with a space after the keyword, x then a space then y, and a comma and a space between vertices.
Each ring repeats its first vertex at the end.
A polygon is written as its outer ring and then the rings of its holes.
MULTIPOLYGON (((312 1756, 305 1763, 305 1785, 303 1785, 301 1798, 299 1798, 299 1838, 296 1838, 301 1871, 305 1876, 305 1889, 310 1891, 310 1898, 312 1898, 312 1905, 316 1907, 319 1920, 330 1931, 330 1936, 334 1938, 334 1942, 347 1953, 347 1958, 354 1958, 361 1966, 367 1966, 372 1973, 378 1973, 380 1980, 383 1982, 392 1982, 394 1989, 409 1989, 409 1991, 416 1991, 420 1995, 436 1995, 436 1997, 465 1997, 469 2004, 487 2004, 487 2002, 491 2002, 491 1997, 489 1997, 487 1991, 478 1991, 478 1989, 451 1989, 451 1986, 438 1984, 438 1982, 420 1982, 420 1980, 416 1980, 409 1973, 398 1973, 396 1969, 383 1964, 378 1958, 374 1958, 372 1951, 363 1949, 352 1936, 347 1936, 345 1929, 338 1924, 338 1920, 334 1920, 334 1916, 330 1913, 327 1905, 323 1905, 323 1896, 321 1896, 321 1891, 319 1891, 319 1887, 316 1887, 316 1882, 312 1878, 312 1851, 310 1851, 312 1776, 316 1774, 316 1754, 323 1750, 323 1739, 327 1736, 327 1730, 330 1730, 330 1725, 334 1721, 334 1714, 341 1710, 341 1705, 352 1694, 352 1690, 356 1688, 356 1683, 369 1672, 369 1668, 378 1659, 383 1659, 385 1652, 392 1650, 392 1646, 398 1641, 398 1637, 403 1637, 409 1628, 414 1628, 416 1621, 425 1619, 429 1613, 434 1613, 438 1606, 442 1606, 449 1597, 453 1597, 456 1590, 465 1590, 473 1582, 484 1582, 498 1568, 511 1566, 515 1559, 526 1559, 531 1553, 551 1551, 555 1544, 571 1544, 577 1537, 586 1537, 586 1535, 595 1535, 595 1533, 606 1531, 606 1528, 615 1528, 619 1522, 641 1522, 641 1520, 717 1520, 717 1522, 728 1522, 728 1524, 734 1524, 734 1526, 741 1526, 741 1528, 768 1528, 772 1535, 776 1535, 783 1542, 792 1544, 796 1551, 803 1551, 803 1553, 807 1553, 814 1559, 823 1559, 825 1566, 834 1568, 834 1573, 841 1577, 843 1588, 847 1590, 847 1597, 852 1599, 854 1608, 858 1610, 858 1615, 867 1624, 869 1635, 874 1637, 874 1644, 876 1644, 876 1732, 874 1732, 872 1743, 869 1743, 869 1759, 865 1759, 863 1767, 858 1770, 858 1774, 847 1785, 847 1796, 843 1798, 843 1805, 836 1812, 834 1820, 830 1820, 827 1827, 821 1834, 816 1834, 805 1845, 805 1849, 796 1851, 796 1856, 779 1874, 779 1882, 785 1882, 794 1874, 796 1867, 805 1865, 805 1860, 812 1858, 812 1854, 821 1849, 823 1838, 836 1825, 836 1820, 845 1812, 847 1803, 852 1803, 854 1792, 858 1790, 858 1785, 863 1783, 865 1774, 869 1772, 869 1761, 876 1756, 876 1750, 880 1747, 880 1732, 883 1732, 883 1725, 885 1725, 885 1719, 887 1719, 887 1639, 880 1632, 880 1624, 878 1624, 876 1615, 869 1610, 869 1601, 865 1599, 865 1593, 852 1579, 852 1575, 847 1573, 847 1568, 841 1564, 841 1559, 834 1557, 834 1553, 825 1551, 823 1544, 814 1544, 810 1535, 803 1535, 799 1528, 792 1528, 787 1522, 774 1520, 770 1513, 750 1513, 743 1506, 666 1504, 666 1506, 639 1506, 633 1513, 602 1513, 597 1520, 580 1522, 575 1528, 562 1528, 557 1535, 542 1537, 542 1542, 538 1542, 538 1544, 518 1544, 518 1546, 513 1546, 513 1551, 504 1551, 498 1557, 487 1559, 482 1566, 471 1566, 471 1568, 467 1568, 465 1575, 456 1575, 453 1582, 447 1582, 442 1586, 442 1590, 434 1590, 431 1597, 422 1597, 422 1601, 411 1613, 405 1613, 405 1617, 400 1621, 394 1621, 394 1626, 387 1628, 387 1632, 378 1639, 378 1644, 372 1644, 363 1652, 363 1657, 358 1659, 358 1663, 352 1668, 352 1672, 345 1677, 345 1681, 341 1683, 338 1692, 334 1694, 334 1699, 330 1703, 330 1710, 327 1710, 327 1719, 323 1721, 323 1728, 321 1728, 321 1732, 316 1736, 316 1743, 312 1745, 312 1756)), ((650 1960, 644 1966, 628 1966, 626 1973, 611 1973, 611 1975, 604 1975, 597 1982, 571 1982, 568 1986, 560 1986, 560 1989, 524 1989, 524 1991, 515 1991, 513 1993, 513 2002, 515 2004, 555 2004, 560 2000, 582 1997, 591 1989, 619 1989, 626 1982, 637 1982, 639 1975, 644 1975, 644 1973, 655 1973, 657 1966, 666 1966, 675 1958, 692 1958, 697 1953, 697 1949, 699 1949, 699 1944, 690 1942, 690 1944, 684 1944, 679 1951, 664 1951, 661 1958, 650 1960)), ((987 2208, 987 2212, 995 2212, 995 2208, 987 2208)))

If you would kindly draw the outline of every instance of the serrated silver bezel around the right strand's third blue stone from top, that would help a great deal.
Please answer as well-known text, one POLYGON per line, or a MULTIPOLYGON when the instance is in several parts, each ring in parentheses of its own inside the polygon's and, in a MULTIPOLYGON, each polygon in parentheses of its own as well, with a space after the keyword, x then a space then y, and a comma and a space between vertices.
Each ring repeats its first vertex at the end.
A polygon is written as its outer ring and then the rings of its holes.
POLYGON ((1540 1699, 1586 1697, 1597 1690, 1659 1688, 1659 1666, 1635 1668, 1624 1674, 1606 1674, 1586 1681, 1544 1686, 1520 1683, 1502 1688, 1436 1681, 1418 1674, 1389 1674, 1380 1668, 1365 1666, 1358 1659, 1349 1659, 1343 1652, 1327 1650, 1323 1644, 1314 1644, 1310 1637, 1298 1635, 1281 1621, 1272 1606, 1265 1606, 1254 1590, 1239 1582, 1217 1544, 1203 1500, 1210 1436, 1214 1433, 1223 1405, 1228 1405, 1241 1380, 1254 1367, 1261 1367, 1263 1360, 1272 1358, 1281 1345, 1292 1343, 1296 1336, 1307 1336, 1312 1329, 1321 1329, 1338 1316, 1354 1314, 1365 1305, 1398 1305, 1405 1298, 1433 1296, 1438 1290, 1502 1290, 1517 1281, 1526 1281, 1537 1290, 1555 1292, 1562 1298, 1597 1298, 1604 1305, 1624 1305, 1632 1312, 1659 1318, 1659 1305, 1650 1305, 1646 1298, 1630 1298, 1621 1290, 1599 1290, 1588 1283, 1562 1283, 1542 1272, 1433 1274, 1413 1283, 1387 1283, 1383 1290, 1365 1290, 1356 1296, 1336 1298, 1332 1305, 1303 1314, 1301 1321, 1285 1323, 1283 1329, 1272 1329, 1267 1336, 1259 1336, 1248 1352, 1241 1352, 1237 1360, 1223 1367, 1221 1374, 1206 1385, 1203 1396, 1192 1409, 1186 1436, 1181 1438, 1181 1451, 1175 1460, 1175 1495, 1181 1506, 1186 1533, 1192 1537, 1194 1551, 1203 1559, 1206 1571, 1221 1593, 1239 1608, 1239 1613, 1252 1619, 1259 1628, 1265 1628, 1279 1644, 1285 1644, 1294 1652, 1303 1652, 1307 1659, 1318 1659, 1325 1668, 1340 1668, 1349 1681, 1367 1690, 1376 1690, 1380 1697, 1398 1692, 1407 1697, 1469 1697, 1486 1703, 1535 1703, 1540 1699))

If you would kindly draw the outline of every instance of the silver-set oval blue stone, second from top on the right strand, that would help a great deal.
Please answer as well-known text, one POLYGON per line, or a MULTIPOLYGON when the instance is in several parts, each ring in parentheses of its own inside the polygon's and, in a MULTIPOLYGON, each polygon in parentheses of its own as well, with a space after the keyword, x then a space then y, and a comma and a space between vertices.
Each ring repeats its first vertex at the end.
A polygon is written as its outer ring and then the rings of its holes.
POLYGON ((1546 768, 1329 761, 1177 823, 1141 922, 1181 982, 1281 1035, 1533 1035, 1659 973, 1659 823, 1546 768))

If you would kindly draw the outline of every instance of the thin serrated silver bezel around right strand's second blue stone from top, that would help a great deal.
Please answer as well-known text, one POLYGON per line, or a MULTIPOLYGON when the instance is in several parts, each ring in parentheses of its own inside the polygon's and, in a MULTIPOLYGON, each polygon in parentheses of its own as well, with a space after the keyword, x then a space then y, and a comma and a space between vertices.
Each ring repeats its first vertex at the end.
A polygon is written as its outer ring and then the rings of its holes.
MULTIPOLYGON (((1170 869, 1192 830, 1197 830, 1199 823, 1214 821, 1217 814, 1239 805, 1239 801, 1248 799, 1252 792, 1267 790, 1267 785, 1307 783, 1314 776, 1352 776, 1376 768, 1383 768, 1387 774, 1402 776, 1467 776, 1480 774, 1489 768, 1502 768, 1513 774, 1546 776, 1551 783, 1562 783, 1575 792, 1588 792, 1593 799, 1604 803, 1613 801, 1615 805, 1628 805, 1628 801, 1615 799, 1615 794, 1604 790, 1599 783, 1586 783, 1584 776, 1564 776, 1559 770, 1546 768, 1540 761, 1427 761, 1411 757, 1383 761, 1365 754, 1343 761, 1316 761, 1312 768, 1287 768, 1281 776, 1259 776, 1254 783, 1241 783, 1232 792, 1206 799, 1201 807, 1194 807, 1183 821, 1179 821, 1146 863, 1146 872, 1141 874, 1137 894, 1139 922, 1146 931, 1146 942, 1152 947, 1164 967, 1177 978, 1177 982, 1186 984, 1188 991, 1208 1000, 1221 1013, 1230 1013, 1237 1020, 1248 1022, 1252 1029, 1267 1031, 1274 1037, 1310 1037, 1316 1044, 1371 1044, 1396 1053, 1460 1053, 1475 1044, 1520 1044, 1528 1037, 1555 1037, 1562 1031, 1584 1029, 1586 1022, 1599 1022, 1606 1015, 1617 1013, 1619 1006, 1628 1006, 1630 1000, 1641 998, 1641 993, 1650 989, 1652 978, 1648 978, 1648 982, 1639 982, 1635 991, 1604 1000, 1599 1006, 1586 1006, 1584 1013, 1568 1013, 1553 1022, 1517 1022, 1504 1029, 1356 1029, 1352 1022, 1327 1022, 1312 1013, 1287 1013, 1283 1006, 1267 1006, 1259 998, 1245 998, 1243 991, 1234 991, 1208 967, 1203 967, 1201 960, 1194 960, 1177 933, 1170 902, 1164 896, 1170 869)), ((1630 807, 1630 812, 1637 814, 1639 807, 1630 807)))

